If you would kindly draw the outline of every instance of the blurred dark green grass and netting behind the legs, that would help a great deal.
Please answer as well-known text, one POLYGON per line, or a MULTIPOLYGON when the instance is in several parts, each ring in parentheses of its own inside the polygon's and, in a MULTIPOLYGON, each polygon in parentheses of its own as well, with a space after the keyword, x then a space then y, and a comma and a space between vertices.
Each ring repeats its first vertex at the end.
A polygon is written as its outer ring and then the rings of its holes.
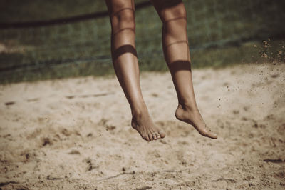
MULTIPOLYGON (((285 1, 184 1, 192 67, 285 61, 285 1)), ((135 0, 141 71, 167 71, 162 23, 135 0)), ((0 83, 114 74, 103 0, 0 0, 0 83)))

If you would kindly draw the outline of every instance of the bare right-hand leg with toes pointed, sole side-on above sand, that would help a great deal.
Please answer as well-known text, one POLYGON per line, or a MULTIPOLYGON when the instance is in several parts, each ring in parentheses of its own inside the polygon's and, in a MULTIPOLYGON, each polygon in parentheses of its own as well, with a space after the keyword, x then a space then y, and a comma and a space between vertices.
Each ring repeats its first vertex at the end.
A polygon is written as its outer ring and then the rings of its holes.
POLYGON ((207 129, 195 100, 185 6, 181 0, 152 0, 152 4, 163 23, 163 52, 178 98, 175 116, 194 126, 203 136, 217 139, 217 135, 207 129))

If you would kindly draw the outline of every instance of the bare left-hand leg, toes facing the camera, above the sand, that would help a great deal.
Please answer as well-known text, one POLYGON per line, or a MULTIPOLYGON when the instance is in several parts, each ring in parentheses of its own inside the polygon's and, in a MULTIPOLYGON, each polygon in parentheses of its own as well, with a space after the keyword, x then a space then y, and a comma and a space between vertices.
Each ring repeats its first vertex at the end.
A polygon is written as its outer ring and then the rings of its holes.
POLYGON ((115 74, 132 111, 131 125, 147 141, 164 138, 147 111, 140 89, 135 50, 135 6, 133 0, 105 0, 112 25, 111 51, 115 74))

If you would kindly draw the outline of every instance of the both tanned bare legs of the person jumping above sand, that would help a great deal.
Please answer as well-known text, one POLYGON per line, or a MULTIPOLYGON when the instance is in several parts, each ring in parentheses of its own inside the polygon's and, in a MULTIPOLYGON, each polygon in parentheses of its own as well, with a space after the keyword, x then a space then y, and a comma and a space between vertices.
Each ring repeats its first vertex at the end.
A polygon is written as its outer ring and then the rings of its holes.
MULTIPOLYGON (((115 74, 132 112, 131 126, 146 141, 165 137, 153 123, 142 98, 140 71, 135 50, 135 4, 133 0, 105 0, 112 26, 111 53, 115 74)), ((181 0, 152 0, 162 21, 162 46, 165 61, 177 92, 175 116, 199 131, 202 136, 217 139, 197 108, 192 84, 190 51, 187 38, 186 10, 181 0)))

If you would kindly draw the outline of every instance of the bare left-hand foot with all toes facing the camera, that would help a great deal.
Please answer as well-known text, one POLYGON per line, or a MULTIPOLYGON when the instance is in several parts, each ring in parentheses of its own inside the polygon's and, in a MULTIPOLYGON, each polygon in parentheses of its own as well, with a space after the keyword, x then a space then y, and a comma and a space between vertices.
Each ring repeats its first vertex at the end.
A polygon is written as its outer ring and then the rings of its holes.
POLYGON ((165 137, 165 133, 157 129, 148 114, 147 109, 139 114, 133 114, 132 118, 133 129, 137 130, 142 139, 146 141, 157 140, 165 137))

